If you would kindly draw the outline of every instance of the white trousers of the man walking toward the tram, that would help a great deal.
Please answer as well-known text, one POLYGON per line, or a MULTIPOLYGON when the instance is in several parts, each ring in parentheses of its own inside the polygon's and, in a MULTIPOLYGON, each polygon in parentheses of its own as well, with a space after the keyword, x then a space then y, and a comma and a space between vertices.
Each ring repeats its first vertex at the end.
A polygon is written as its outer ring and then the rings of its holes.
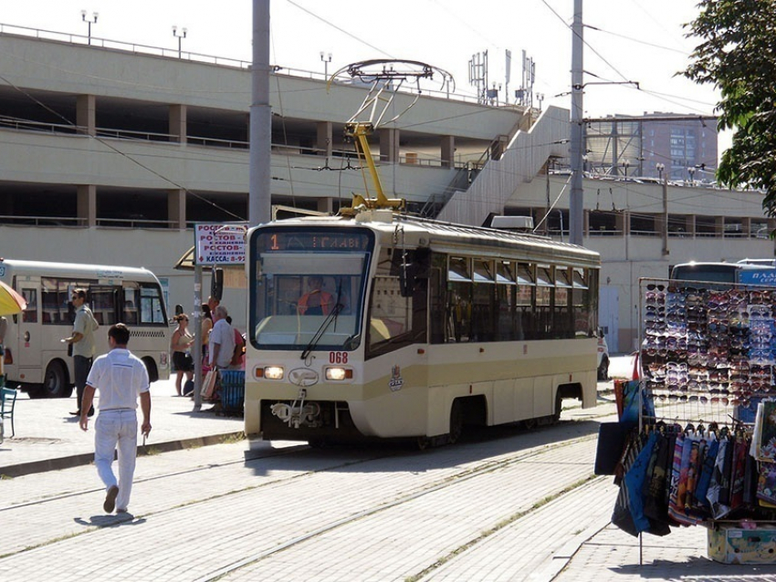
POLYGON ((94 464, 106 491, 119 485, 117 509, 127 509, 138 448, 138 417, 133 410, 100 411, 94 423, 94 464), (119 480, 113 474, 113 455, 119 450, 119 480))

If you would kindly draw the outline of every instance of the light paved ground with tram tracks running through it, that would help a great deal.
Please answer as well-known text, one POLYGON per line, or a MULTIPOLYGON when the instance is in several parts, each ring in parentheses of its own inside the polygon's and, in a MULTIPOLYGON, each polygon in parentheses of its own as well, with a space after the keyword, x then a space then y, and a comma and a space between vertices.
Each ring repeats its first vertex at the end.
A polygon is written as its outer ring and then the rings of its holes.
MULTIPOLYGON (((193 413, 172 385, 153 390, 160 450, 241 428, 193 413)), ((597 423, 613 414, 608 394, 597 409, 564 411, 555 427, 427 452, 243 440, 143 456, 129 522, 102 514, 92 465, 5 479, 0 579, 776 579, 776 566, 710 562, 699 527, 645 536, 638 566, 638 540, 609 525, 616 488, 592 476, 597 423)), ((65 416, 73 401, 20 400, 0 473, 19 465, 6 454, 88 454, 90 436, 65 416)))

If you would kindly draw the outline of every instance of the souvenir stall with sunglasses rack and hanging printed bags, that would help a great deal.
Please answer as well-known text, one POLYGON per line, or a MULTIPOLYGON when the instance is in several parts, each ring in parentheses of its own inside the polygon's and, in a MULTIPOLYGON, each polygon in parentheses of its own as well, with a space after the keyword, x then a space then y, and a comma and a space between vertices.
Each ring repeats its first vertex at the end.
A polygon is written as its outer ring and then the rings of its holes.
POLYGON ((705 526, 710 558, 776 563, 776 289, 639 288, 640 413, 613 472, 613 524, 705 526))

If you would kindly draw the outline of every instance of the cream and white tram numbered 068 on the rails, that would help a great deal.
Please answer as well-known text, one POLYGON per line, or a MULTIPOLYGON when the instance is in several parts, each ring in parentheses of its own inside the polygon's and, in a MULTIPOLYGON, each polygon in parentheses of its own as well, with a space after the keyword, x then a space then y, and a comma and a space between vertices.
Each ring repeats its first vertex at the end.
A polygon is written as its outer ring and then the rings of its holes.
POLYGON ((558 421, 566 398, 590 408, 600 266, 581 246, 385 209, 254 227, 246 434, 425 447, 558 421))

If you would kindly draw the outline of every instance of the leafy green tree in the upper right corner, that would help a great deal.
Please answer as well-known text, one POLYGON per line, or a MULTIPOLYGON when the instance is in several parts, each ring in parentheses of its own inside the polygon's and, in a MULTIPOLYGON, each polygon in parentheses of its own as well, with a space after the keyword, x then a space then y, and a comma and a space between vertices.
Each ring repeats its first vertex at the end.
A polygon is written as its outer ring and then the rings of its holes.
POLYGON ((702 0, 685 25, 702 40, 683 75, 721 92, 718 127, 733 130, 717 179, 764 192, 776 216, 776 0, 702 0))

